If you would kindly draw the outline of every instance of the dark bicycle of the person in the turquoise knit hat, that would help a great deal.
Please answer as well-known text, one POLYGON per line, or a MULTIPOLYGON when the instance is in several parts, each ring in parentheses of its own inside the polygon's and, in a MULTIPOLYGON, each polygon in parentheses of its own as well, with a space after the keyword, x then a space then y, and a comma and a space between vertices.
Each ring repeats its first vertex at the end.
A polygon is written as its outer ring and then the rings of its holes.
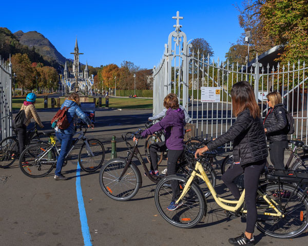
MULTIPOLYGON (((7 137, 0 141, 0 168, 9 168, 16 159, 20 156, 20 147, 18 144, 17 130, 12 128, 15 136, 7 137)), ((35 141, 36 144, 44 142, 41 140, 41 132, 37 131, 37 124, 34 123, 34 127, 28 130, 26 136, 25 148, 35 141)))

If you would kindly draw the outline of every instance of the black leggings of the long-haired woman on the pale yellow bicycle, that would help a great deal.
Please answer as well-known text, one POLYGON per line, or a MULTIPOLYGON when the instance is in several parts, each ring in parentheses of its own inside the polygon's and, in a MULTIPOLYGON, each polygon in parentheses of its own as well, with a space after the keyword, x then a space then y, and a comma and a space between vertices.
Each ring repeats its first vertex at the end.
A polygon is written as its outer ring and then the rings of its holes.
POLYGON ((266 159, 249 163, 246 166, 233 164, 223 175, 222 180, 235 199, 240 199, 240 191, 234 183, 234 179, 244 173, 245 203, 247 209, 246 232, 254 233, 257 221, 256 195, 259 186, 260 174, 266 164, 266 159))

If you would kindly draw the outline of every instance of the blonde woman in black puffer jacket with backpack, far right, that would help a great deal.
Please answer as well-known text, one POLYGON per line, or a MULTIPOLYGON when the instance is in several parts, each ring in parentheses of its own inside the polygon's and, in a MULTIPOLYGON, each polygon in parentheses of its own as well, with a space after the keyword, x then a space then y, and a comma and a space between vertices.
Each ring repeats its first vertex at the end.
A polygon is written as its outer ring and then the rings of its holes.
POLYGON ((263 125, 269 141, 269 156, 275 168, 284 169, 284 149, 288 145, 285 109, 277 91, 268 93, 266 98, 269 110, 263 125))

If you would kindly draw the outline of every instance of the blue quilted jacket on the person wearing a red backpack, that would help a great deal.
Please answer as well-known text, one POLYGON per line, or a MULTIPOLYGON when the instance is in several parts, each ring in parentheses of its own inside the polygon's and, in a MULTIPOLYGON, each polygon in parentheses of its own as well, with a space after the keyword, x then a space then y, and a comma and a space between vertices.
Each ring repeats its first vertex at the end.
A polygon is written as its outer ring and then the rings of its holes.
POLYGON ((78 117, 80 117, 88 125, 91 125, 91 120, 89 119, 89 117, 73 100, 65 100, 63 105, 61 106, 61 109, 63 109, 63 107, 70 107, 66 113, 66 117, 68 122, 70 122, 70 125, 65 130, 57 130, 58 132, 63 132, 64 134, 75 134, 75 125, 78 121, 78 117))

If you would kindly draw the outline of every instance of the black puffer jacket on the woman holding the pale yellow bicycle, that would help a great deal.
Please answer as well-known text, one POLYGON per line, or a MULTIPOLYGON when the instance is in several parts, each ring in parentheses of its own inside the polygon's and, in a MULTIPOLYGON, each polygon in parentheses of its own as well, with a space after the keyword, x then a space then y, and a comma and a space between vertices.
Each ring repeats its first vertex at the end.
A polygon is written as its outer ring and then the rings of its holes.
POLYGON ((263 160, 268 155, 262 120, 254 119, 248 109, 238 115, 225 134, 209 142, 207 148, 214 150, 229 141, 233 141, 233 159, 241 165, 263 160))

